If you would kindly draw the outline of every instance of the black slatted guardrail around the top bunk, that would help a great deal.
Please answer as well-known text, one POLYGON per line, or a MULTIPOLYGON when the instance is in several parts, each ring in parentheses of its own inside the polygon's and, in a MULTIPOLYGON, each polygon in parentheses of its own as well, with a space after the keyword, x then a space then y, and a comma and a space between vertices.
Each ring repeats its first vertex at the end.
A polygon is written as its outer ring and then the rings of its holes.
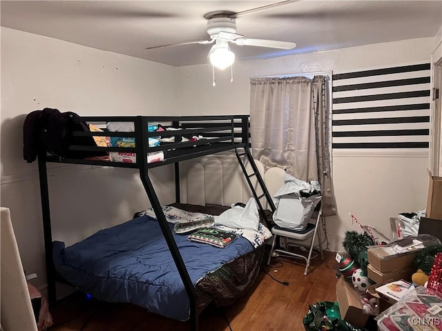
MULTIPOLYGON (((112 147, 112 146, 67 146, 68 150, 90 152, 120 152, 135 153, 142 155, 142 160, 147 160, 149 154, 162 152, 164 157, 161 161, 148 163, 148 168, 155 168, 160 165, 177 163, 186 159, 201 157, 206 154, 222 152, 231 148, 241 147, 249 143, 249 116, 248 115, 224 115, 224 116, 202 116, 202 117, 78 117, 73 121, 83 121, 98 125, 106 125, 108 122, 132 122, 135 130, 133 132, 102 132, 79 131, 71 132, 72 137, 126 137, 135 139, 135 147, 112 147), (166 129, 173 128, 177 130, 164 130, 162 132, 148 131, 150 123, 160 123, 166 129), (139 127, 140 129, 136 129, 139 127), (183 141, 174 143, 160 143, 158 146, 149 146, 148 139, 157 136, 161 138, 170 138, 177 136, 200 137, 198 140, 183 141), (142 143, 139 143, 139 142, 142 143), (146 146, 144 146, 146 143, 146 146)), ((111 160, 93 157, 88 159, 69 159, 57 156, 48 156, 48 162, 77 163, 88 165, 109 165, 121 168, 139 168, 136 163, 113 162, 111 160)), ((137 161, 140 157, 137 157, 137 161)))

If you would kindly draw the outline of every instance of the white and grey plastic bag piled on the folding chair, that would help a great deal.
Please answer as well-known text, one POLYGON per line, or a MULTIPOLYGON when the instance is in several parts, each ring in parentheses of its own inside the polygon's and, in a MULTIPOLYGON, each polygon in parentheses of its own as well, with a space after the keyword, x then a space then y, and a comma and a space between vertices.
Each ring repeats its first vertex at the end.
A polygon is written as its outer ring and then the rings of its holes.
POLYGON ((321 195, 317 181, 307 183, 285 174, 284 185, 273 196, 273 203, 276 206, 273 221, 281 228, 296 231, 305 230, 320 199, 321 195))

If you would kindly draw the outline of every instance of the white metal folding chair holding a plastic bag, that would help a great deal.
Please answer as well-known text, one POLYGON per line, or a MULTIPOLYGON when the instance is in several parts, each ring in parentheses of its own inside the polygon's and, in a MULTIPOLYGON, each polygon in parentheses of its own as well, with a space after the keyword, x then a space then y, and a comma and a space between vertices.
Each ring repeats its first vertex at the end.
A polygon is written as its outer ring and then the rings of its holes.
POLYGON ((323 248, 322 248, 322 240, 320 236, 320 230, 319 230, 319 224, 321 223, 321 217, 323 214, 323 208, 321 206, 322 204, 319 203, 319 210, 315 211, 317 213, 317 216, 315 218, 315 223, 307 223, 307 228, 302 231, 296 231, 291 230, 287 228, 281 228, 278 225, 275 225, 271 229, 271 233, 273 234, 273 243, 271 244, 271 250, 269 253, 269 259, 267 260, 267 265, 270 265, 270 260, 272 257, 278 257, 280 255, 287 256, 287 257, 295 257, 297 259, 305 259, 306 265, 305 265, 305 272, 304 276, 307 276, 307 272, 309 270, 310 266, 310 260, 314 259, 315 257, 318 257, 318 252, 314 252, 314 250, 318 250, 320 252, 320 258, 321 260, 324 259, 323 255, 323 248), (315 248, 315 239, 316 234, 318 235, 318 248, 315 248), (281 237, 281 239, 284 241, 284 248, 279 247, 275 249, 275 245, 278 243, 278 237, 281 237), (299 247, 306 247, 304 244, 296 244, 294 241, 305 241, 307 239, 311 238, 311 243, 307 248, 309 248, 309 253, 307 254, 297 254, 294 252, 289 252, 289 246, 299 246, 299 247), (287 241, 287 239, 291 239, 290 241, 287 241))

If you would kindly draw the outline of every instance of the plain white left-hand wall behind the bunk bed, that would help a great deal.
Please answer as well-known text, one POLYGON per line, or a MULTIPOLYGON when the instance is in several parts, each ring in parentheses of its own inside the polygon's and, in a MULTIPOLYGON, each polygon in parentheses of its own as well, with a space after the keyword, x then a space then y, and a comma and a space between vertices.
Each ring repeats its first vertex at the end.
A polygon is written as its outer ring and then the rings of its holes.
MULTIPOLYGON (((49 107, 83 116, 176 115, 176 75, 171 66, 1 28, 1 205, 10 208, 23 267, 39 274, 37 286, 46 283, 44 239, 37 162, 23 161, 26 114, 49 107)), ((135 170, 49 166, 55 240, 70 245, 150 206, 135 170)), ((149 173, 160 201, 173 202, 173 168, 149 173)))

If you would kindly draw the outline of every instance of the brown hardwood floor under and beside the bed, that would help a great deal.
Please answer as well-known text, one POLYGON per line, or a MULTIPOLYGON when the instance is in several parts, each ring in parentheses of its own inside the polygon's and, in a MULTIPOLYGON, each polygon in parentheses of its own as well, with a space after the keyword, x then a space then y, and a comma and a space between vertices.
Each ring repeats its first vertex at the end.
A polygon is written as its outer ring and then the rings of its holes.
MULTIPOLYGON (((206 308, 200 314, 200 330, 305 330, 302 319, 309 304, 336 301, 334 256, 332 252, 325 252, 324 261, 320 257, 312 260, 307 276, 303 274, 305 264, 301 260, 273 259, 272 267, 262 269, 289 285, 278 283, 261 270, 254 287, 237 303, 226 308, 206 308), (299 262, 294 264, 294 261, 299 262)), ((54 325, 49 331, 190 330, 189 323, 166 319, 131 304, 86 299, 80 292, 59 301, 50 311, 54 325)))

